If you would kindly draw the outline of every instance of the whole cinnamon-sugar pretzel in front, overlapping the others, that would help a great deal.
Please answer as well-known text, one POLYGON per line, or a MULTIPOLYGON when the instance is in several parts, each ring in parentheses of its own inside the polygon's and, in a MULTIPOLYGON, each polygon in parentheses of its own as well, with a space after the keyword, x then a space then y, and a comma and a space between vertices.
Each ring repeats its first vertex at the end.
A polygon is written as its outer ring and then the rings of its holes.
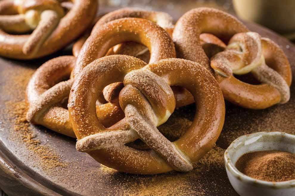
POLYGON ((78 139, 76 148, 123 172, 190 171, 221 132, 225 115, 222 92, 214 77, 198 63, 163 59, 141 68, 143 63, 135 57, 112 55, 83 69, 74 82, 68 104, 78 139), (115 82, 123 82, 125 86, 119 96, 125 118, 119 121, 120 126, 105 128, 97 119, 94 106, 98 93, 115 82), (175 108, 170 88, 173 85, 187 88, 198 109, 188 131, 171 143, 156 126, 163 124, 175 108), (152 150, 124 145, 137 138, 152 150))

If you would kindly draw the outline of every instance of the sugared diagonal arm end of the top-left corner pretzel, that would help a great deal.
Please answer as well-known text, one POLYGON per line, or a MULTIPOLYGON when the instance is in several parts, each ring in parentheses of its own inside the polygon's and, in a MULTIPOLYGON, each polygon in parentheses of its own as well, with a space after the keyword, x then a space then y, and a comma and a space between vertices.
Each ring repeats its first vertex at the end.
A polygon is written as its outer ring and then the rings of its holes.
POLYGON ((55 11, 45 10, 41 14, 41 20, 37 28, 32 32, 27 42, 24 44, 23 52, 26 55, 35 54, 40 46, 50 36, 56 28, 60 18, 55 11))

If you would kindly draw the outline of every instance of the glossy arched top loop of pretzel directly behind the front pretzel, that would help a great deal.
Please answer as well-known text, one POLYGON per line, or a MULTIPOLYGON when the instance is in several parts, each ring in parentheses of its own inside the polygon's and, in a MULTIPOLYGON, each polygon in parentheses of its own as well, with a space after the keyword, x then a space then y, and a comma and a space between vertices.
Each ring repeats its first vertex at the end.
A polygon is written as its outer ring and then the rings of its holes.
POLYGON ((126 41, 139 42, 149 48, 150 63, 176 57, 173 41, 164 29, 146 19, 122 18, 92 31, 77 57, 72 75, 77 75, 86 65, 105 56, 112 46, 126 41))

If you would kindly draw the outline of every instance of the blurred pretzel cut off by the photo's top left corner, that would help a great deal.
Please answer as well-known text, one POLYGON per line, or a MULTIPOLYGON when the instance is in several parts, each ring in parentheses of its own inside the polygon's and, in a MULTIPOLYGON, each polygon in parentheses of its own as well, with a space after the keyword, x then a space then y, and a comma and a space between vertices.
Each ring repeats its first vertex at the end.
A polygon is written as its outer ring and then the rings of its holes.
POLYGON ((36 59, 68 45, 91 24, 98 7, 97 0, 73 3, 65 13, 57 0, 1 1, 0 55, 36 59), (14 35, 30 31, 30 35, 14 35))

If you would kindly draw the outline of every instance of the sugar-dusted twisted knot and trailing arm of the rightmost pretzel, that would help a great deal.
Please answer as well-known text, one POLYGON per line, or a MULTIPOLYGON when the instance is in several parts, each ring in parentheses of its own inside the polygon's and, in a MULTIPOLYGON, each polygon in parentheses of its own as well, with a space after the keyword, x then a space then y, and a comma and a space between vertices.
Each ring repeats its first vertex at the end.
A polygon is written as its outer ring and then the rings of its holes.
POLYGON ((251 72, 260 82, 276 88, 280 93, 279 103, 283 104, 290 99, 290 89, 286 80, 265 63, 261 42, 267 41, 255 32, 235 34, 225 51, 211 59, 211 67, 227 78, 233 73, 243 75, 251 72))

